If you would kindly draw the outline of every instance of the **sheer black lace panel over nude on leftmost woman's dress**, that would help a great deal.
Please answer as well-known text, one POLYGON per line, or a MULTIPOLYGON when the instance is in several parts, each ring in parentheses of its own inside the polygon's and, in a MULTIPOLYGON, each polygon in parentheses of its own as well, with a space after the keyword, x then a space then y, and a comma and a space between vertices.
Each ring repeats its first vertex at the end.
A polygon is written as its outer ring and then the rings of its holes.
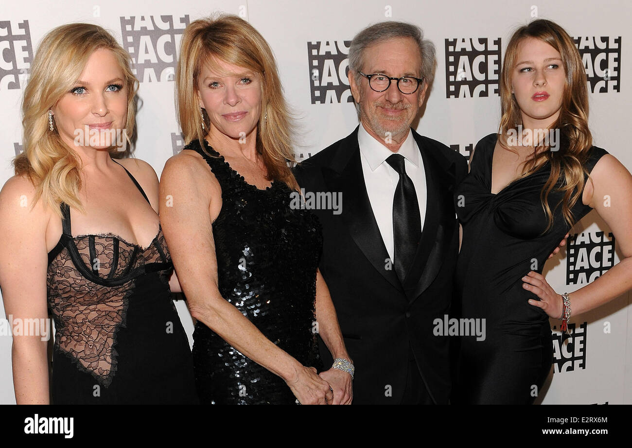
POLYGON ((168 283, 171 258, 162 230, 144 250, 111 234, 63 235, 62 241, 64 248, 52 259, 47 275, 55 347, 107 387, 116 373, 116 333, 125 328, 135 278, 159 270, 162 282, 168 283), (83 275, 85 270, 90 275, 83 275))

